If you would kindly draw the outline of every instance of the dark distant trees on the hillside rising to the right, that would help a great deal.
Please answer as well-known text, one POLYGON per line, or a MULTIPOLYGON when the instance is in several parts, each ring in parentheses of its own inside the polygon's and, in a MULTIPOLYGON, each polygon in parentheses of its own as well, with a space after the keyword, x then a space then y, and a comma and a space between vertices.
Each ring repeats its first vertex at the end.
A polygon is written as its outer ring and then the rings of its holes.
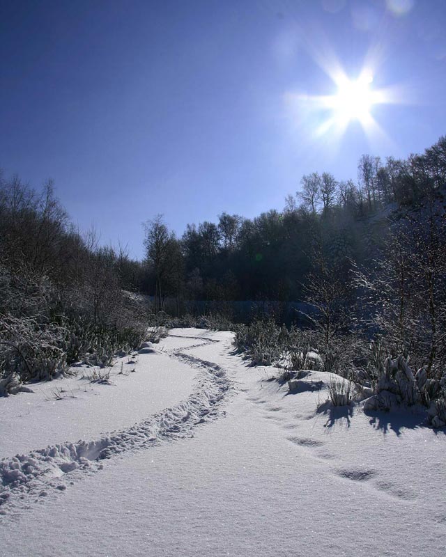
POLYGON ((422 155, 403 160, 362 155, 355 182, 328 172, 304 175, 284 210, 254 219, 222 213, 216 223, 187 225, 176 237, 159 215, 145 225, 143 288, 155 296, 157 309, 167 298, 177 308, 182 300, 302 300, 315 253, 336 262, 344 278, 351 261, 371 269, 390 222, 441 196, 445 183, 441 137, 422 155))

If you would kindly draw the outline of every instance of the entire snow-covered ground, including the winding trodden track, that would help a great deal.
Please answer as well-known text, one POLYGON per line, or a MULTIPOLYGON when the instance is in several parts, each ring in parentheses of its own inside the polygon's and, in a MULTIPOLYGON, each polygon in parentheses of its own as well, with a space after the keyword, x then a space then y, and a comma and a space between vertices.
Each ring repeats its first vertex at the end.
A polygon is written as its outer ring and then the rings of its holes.
POLYGON ((0 555, 443 557, 445 430, 325 407, 322 372, 291 394, 231 340, 176 329, 93 393, 0 399, 0 555))

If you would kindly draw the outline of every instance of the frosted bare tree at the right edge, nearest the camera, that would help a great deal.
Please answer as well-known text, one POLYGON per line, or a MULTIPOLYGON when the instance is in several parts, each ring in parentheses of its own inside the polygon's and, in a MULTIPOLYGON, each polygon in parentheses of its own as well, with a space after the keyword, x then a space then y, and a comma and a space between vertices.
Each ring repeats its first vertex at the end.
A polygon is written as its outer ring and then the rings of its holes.
POLYGON ((408 352, 436 377, 446 364, 446 218, 438 201, 409 212, 391 228, 372 270, 357 273, 363 318, 393 356, 408 352))

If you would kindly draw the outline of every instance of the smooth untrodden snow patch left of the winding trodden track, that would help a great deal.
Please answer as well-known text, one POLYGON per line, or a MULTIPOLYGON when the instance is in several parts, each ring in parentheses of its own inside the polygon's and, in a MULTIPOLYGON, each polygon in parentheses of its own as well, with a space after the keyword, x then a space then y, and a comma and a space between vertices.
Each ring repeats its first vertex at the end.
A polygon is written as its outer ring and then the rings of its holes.
POLYGON ((110 384, 87 378, 106 370, 75 369, 77 377, 33 384, 34 393, 0 398, 0 457, 134 425, 187 398, 196 375, 164 352, 118 358, 110 384))

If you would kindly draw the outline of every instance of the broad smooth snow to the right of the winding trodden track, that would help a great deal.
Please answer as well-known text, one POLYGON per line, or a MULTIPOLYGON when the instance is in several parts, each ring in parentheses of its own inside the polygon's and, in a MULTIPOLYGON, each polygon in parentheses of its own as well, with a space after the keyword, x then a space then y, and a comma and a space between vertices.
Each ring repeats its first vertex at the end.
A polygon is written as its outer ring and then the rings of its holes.
POLYGON ((415 414, 317 411, 325 374, 306 378, 321 390, 289 394, 273 370, 233 355, 231 334, 174 334, 194 338, 165 339, 172 361, 229 386, 214 419, 183 431, 178 414, 175 443, 113 454, 98 473, 63 474, 66 490, 26 496, 29 509, 3 517, 0 556, 445 555, 444 432, 415 414))

